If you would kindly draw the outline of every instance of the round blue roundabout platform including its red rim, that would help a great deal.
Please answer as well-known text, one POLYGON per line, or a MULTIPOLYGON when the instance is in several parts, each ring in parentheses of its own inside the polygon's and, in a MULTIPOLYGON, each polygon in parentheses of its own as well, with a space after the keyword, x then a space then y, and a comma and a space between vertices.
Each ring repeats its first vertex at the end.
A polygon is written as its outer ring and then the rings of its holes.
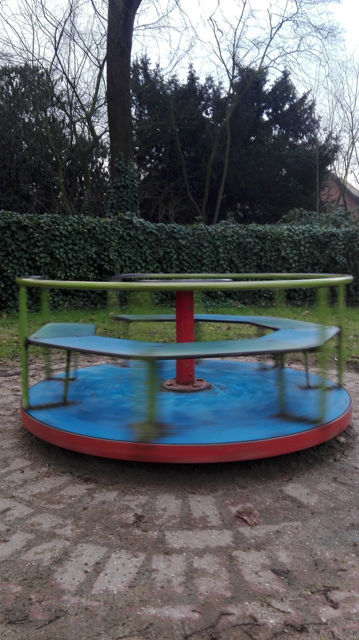
POLYGON ((344 388, 305 372, 284 369, 285 410, 279 408, 279 369, 259 363, 203 360, 197 378, 211 388, 181 394, 160 389, 175 362, 159 368, 158 422, 146 424, 146 364, 103 364, 77 372, 68 404, 61 404, 63 374, 34 385, 25 426, 43 440, 123 460, 208 462, 263 458, 324 442, 351 419, 344 388), (324 383, 325 415, 319 383, 324 383), (49 405, 49 406, 47 406, 49 405))

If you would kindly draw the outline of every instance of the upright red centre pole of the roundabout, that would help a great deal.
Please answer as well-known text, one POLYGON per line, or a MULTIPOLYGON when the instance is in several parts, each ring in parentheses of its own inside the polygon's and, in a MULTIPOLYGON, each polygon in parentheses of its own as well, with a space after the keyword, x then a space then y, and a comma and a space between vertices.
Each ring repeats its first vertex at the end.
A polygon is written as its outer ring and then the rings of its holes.
MULTIPOLYGON (((176 342, 194 342, 193 291, 176 291, 176 342)), ((194 383, 194 360, 176 360, 176 383, 194 383)))

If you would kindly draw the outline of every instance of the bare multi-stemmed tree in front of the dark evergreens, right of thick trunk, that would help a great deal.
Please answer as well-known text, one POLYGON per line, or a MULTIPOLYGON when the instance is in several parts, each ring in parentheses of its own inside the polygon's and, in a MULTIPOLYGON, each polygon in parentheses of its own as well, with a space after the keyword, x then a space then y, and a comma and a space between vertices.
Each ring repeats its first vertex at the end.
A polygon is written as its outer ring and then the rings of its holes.
MULTIPOLYGON (((265 71, 275 76, 287 68, 297 77, 303 76, 305 65, 314 65, 315 60, 328 57, 328 49, 336 37, 336 28, 325 15, 326 4, 326 0, 279 0, 270 3, 266 10, 254 10, 249 0, 240 0, 236 3, 236 12, 229 15, 225 3, 218 1, 215 12, 208 18, 212 38, 202 44, 207 47, 209 58, 217 66, 218 77, 224 82, 226 102, 224 118, 215 132, 207 161, 204 196, 201 203, 194 203, 202 222, 208 222, 213 163, 220 138, 225 136, 222 177, 211 222, 218 221, 231 148, 231 115, 256 77, 252 74, 249 83, 238 92, 235 90, 238 69, 249 67, 257 74, 265 71)), ((188 191, 185 158, 178 136, 176 141, 188 191)), ((188 195, 194 202, 192 194, 188 195)))

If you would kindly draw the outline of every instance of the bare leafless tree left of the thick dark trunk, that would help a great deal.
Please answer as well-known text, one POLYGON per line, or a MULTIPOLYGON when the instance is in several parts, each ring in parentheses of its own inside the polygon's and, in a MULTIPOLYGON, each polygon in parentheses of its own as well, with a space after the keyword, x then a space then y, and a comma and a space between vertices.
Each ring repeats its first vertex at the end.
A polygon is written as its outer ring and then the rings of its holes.
MULTIPOLYGON (((70 125, 84 180, 82 211, 91 209, 89 158, 107 134, 105 118, 105 29, 98 12, 88 13, 80 0, 65 5, 45 0, 18 0, 17 12, 3 7, 3 47, 11 59, 43 70, 52 88, 52 100, 70 125)), ((75 213, 65 187, 67 158, 52 138, 51 113, 43 115, 43 127, 57 165, 63 208, 75 213)))

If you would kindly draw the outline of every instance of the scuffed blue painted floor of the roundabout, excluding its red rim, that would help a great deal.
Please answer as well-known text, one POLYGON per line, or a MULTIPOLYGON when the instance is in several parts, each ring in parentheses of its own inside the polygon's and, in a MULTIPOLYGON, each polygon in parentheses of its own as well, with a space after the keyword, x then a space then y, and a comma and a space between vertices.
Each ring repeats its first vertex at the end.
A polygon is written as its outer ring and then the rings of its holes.
MULTIPOLYGON (((34 418, 79 435, 133 442, 136 424, 146 420, 145 363, 130 362, 81 369, 70 381, 67 406, 29 408, 34 418)), ((175 363, 162 362, 158 376, 174 376, 175 363)), ((196 365, 196 376, 210 381, 210 390, 198 393, 157 391, 157 420, 164 433, 149 442, 164 444, 218 444, 248 442, 302 433, 317 426, 319 389, 305 388, 305 372, 284 369, 286 407, 291 418, 279 417, 278 369, 259 363, 206 360, 196 365), (309 421, 310 420, 310 421, 309 421)), ((322 379, 309 376, 310 384, 322 379)), ((350 406, 346 390, 325 381, 324 422, 342 415, 350 406)), ((158 384, 159 387, 159 384, 158 384)), ((29 390, 31 405, 60 403, 63 374, 29 390)))

